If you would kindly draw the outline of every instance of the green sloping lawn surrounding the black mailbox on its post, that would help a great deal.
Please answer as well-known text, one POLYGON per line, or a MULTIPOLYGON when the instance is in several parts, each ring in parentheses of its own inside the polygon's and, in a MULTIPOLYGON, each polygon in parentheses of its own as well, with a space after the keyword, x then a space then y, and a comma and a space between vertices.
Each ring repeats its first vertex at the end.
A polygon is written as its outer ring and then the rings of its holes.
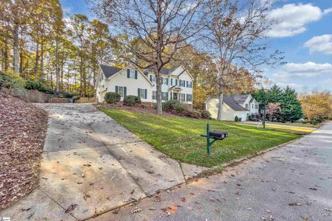
POLYGON ((100 110, 166 155, 200 166, 216 166, 299 137, 282 129, 264 131, 263 128, 230 122, 147 115, 116 109, 100 110), (212 130, 229 133, 226 140, 212 145, 210 156, 206 153, 205 138, 200 137, 206 133, 207 122, 210 122, 212 130))

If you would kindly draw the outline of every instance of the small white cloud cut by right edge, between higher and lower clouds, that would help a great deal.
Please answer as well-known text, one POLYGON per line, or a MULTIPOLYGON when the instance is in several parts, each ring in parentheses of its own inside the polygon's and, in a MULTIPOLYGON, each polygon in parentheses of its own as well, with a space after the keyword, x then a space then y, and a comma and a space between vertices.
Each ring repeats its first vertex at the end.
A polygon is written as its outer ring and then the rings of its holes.
POLYGON ((315 36, 306 41, 304 47, 309 48, 310 52, 332 55, 332 35, 315 36))

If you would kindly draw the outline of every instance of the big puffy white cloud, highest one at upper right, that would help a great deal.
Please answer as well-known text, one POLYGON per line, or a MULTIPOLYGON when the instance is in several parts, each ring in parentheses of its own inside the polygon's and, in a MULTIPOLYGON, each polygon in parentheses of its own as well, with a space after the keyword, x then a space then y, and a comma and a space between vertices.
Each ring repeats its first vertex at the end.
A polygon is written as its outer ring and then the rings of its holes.
POLYGON ((311 3, 298 5, 286 4, 282 8, 275 8, 270 11, 268 19, 279 21, 268 31, 269 37, 291 37, 306 31, 306 24, 319 21, 323 15, 332 12, 332 8, 322 11, 311 3))

